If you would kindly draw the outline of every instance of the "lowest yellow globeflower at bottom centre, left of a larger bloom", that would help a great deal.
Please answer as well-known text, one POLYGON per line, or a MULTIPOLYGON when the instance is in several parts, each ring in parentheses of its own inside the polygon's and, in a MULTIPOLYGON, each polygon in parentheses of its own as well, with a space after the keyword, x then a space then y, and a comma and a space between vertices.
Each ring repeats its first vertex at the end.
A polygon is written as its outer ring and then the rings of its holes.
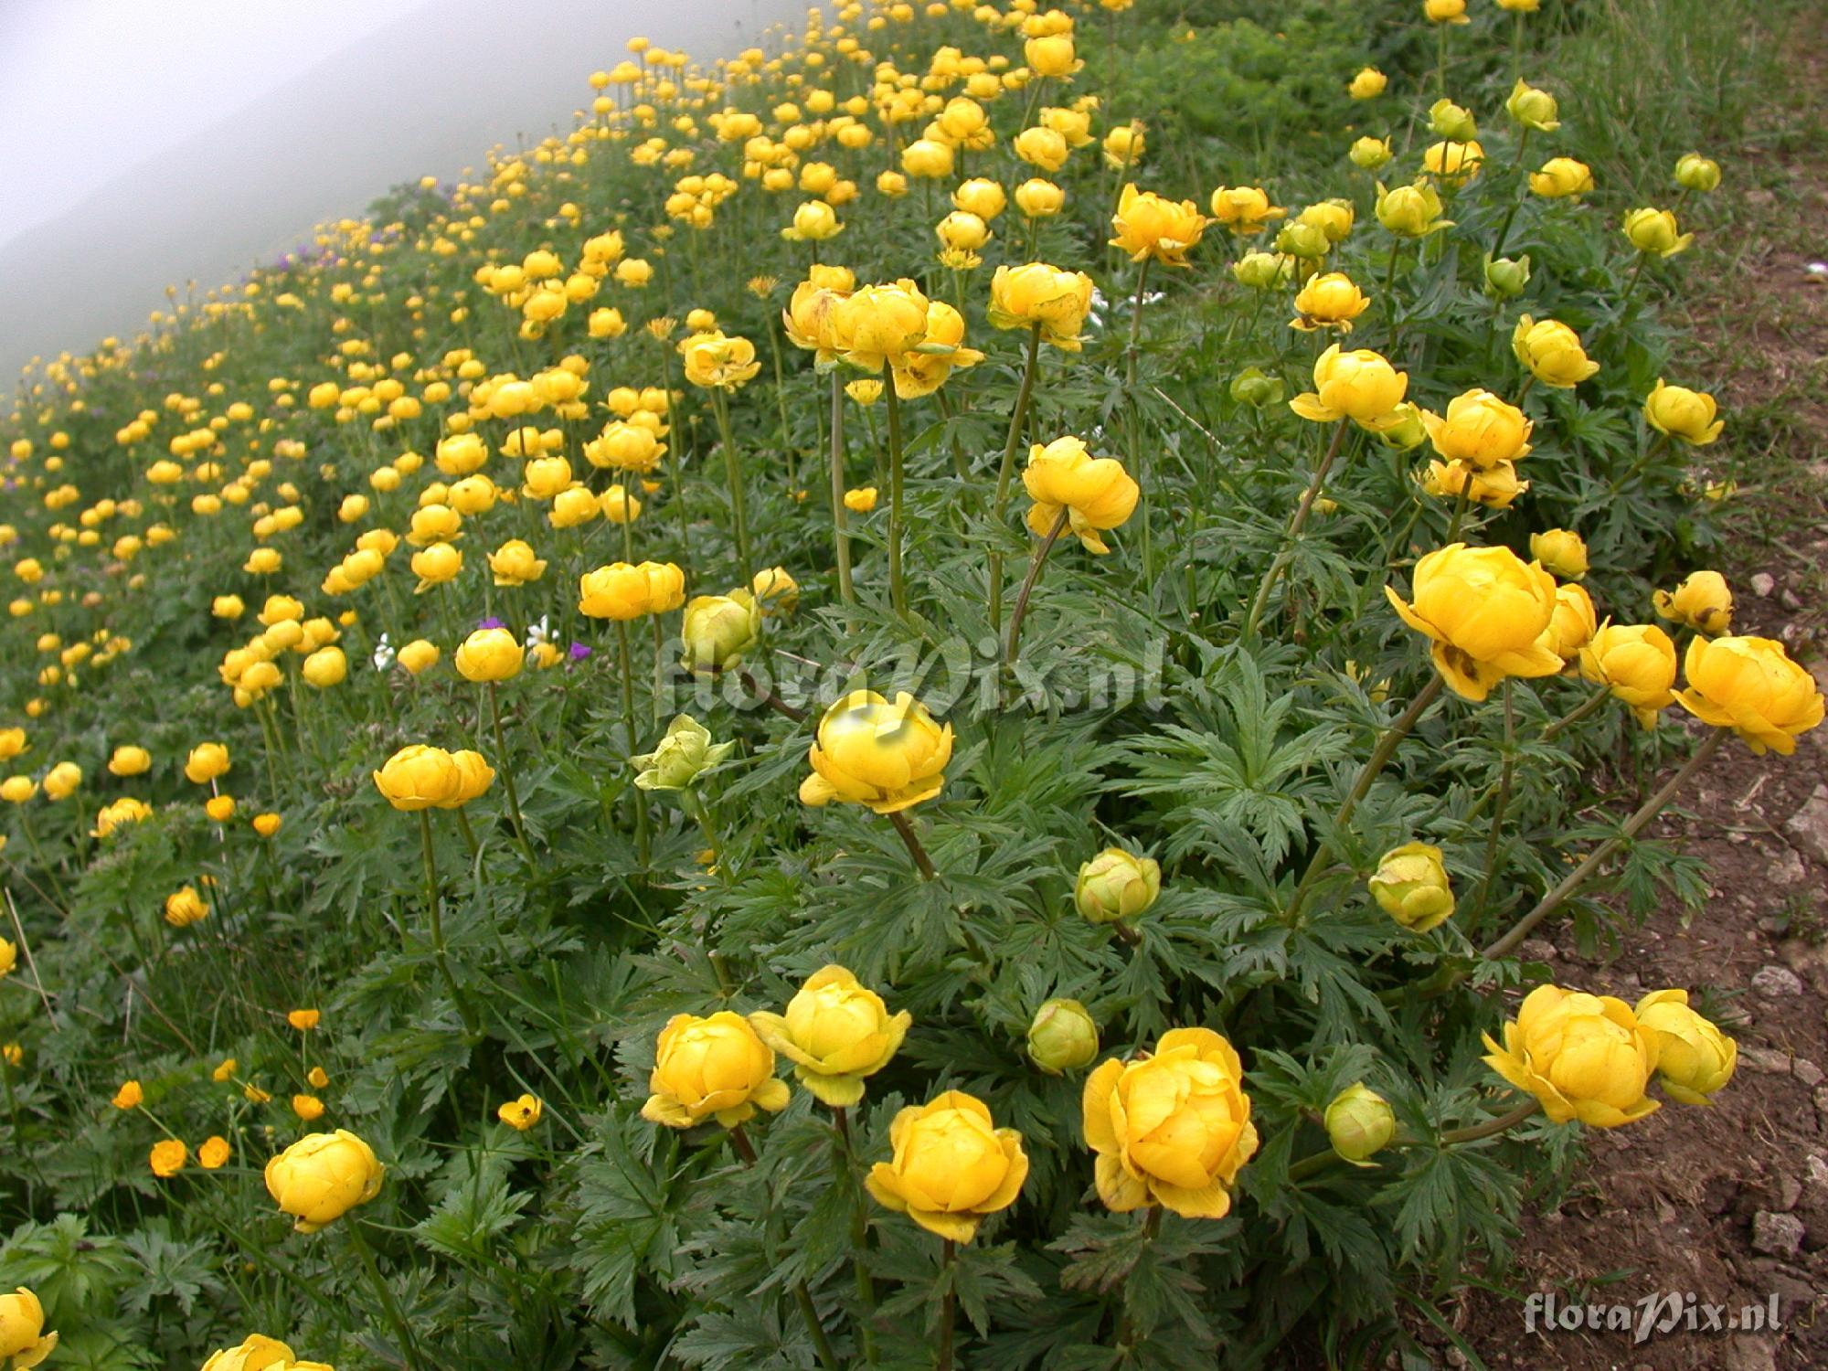
POLYGON ((996 1128, 983 1100, 962 1089, 901 1110, 888 1142, 894 1155, 865 1177, 870 1196, 954 1243, 976 1238, 983 1217, 1009 1208, 1027 1179, 1022 1135, 996 1128))

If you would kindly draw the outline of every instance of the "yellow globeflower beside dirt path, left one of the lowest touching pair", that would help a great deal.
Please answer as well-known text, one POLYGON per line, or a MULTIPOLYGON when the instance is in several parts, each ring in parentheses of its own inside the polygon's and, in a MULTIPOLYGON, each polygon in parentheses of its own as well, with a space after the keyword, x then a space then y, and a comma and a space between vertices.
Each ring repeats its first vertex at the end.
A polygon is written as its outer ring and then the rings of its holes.
POLYGON ((1484 1035, 1484 1064, 1517 1089, 1536 1095, 1554 1122, 1579 1119, 1618 1128, 1658 1108, 1643 1089, 1656 1069, 1662 1035, 1638 1022, 1610 994, 1537 985, 1517 1018, 1504 1024, 1504 1046, 1484 1035))

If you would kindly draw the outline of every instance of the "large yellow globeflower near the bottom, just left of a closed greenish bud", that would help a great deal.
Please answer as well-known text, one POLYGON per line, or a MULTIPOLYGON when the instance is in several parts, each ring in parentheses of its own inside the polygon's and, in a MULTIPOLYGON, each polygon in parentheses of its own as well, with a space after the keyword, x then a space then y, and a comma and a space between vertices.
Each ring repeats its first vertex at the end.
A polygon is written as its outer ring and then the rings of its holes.
POLYGON ((1163 1205, 1223 1219, 1230 1186, 1258 1148, 1243 1066, 1212 1029, 1170 1029, 1153 1055, 1111 1058, 1086 1079, 1086 1144, 1099 1199, 1124 1214, 1163 1205))

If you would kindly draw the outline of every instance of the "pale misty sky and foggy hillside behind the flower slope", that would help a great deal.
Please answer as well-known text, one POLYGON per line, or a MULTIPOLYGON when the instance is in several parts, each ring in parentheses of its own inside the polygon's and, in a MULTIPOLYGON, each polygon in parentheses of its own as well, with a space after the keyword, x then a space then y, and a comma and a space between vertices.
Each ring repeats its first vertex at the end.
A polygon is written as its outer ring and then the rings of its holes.
POLYGON ((645 35, 698 62, 806 0, 0 0, 0 393, 400 181, 567 133, 645 35))

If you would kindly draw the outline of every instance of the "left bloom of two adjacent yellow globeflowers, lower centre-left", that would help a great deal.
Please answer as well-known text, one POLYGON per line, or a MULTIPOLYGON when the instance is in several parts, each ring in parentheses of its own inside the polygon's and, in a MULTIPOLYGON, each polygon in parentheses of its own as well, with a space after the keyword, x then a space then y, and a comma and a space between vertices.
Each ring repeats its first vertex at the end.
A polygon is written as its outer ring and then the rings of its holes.
POLYGON ((717 1119, 735 1128, 762 1108, 786 1108, 788 1086, 775 1077, 775 1055, 742 1015, 675 1015, 660 1029, 642 1117, 667 1128, 717 1119))

